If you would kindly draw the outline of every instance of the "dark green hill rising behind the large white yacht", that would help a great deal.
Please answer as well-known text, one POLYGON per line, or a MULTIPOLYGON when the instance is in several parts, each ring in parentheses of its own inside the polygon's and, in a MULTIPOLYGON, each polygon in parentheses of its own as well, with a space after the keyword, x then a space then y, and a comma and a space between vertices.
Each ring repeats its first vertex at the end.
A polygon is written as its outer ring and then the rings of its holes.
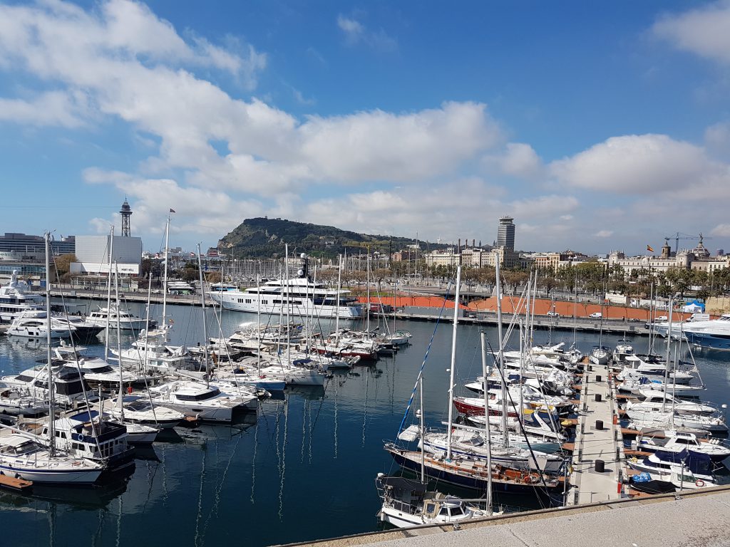
MULTIPOLYGON (((415 239, 372 236, 340 230, 334 226, 293 222, 291 220, 250 218, 242 222, 238 228, 218 241, 220 252, 234 258, 276 258, 284 256, 284 244, 289 244, 289 252, 306 252, 307 255, 322 258, 334 258, 355 249, 367 249, 371 252, 396 252, 407 245, 415 244, 415 239)), ((421 249, 426 246, 421 244, 421 249)), ((431 249, 446 247, 444 244, 431 244, 431 249)))

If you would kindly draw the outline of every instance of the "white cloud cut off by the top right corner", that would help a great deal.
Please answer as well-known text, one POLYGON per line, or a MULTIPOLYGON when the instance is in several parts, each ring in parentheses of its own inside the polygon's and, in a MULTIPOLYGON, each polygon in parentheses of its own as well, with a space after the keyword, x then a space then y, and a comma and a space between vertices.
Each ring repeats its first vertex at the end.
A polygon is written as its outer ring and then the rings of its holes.
POLYGON ((653 25, 652 32, 679 50, 730 63, 730 4, 727 1, 665 15, 653 25))

